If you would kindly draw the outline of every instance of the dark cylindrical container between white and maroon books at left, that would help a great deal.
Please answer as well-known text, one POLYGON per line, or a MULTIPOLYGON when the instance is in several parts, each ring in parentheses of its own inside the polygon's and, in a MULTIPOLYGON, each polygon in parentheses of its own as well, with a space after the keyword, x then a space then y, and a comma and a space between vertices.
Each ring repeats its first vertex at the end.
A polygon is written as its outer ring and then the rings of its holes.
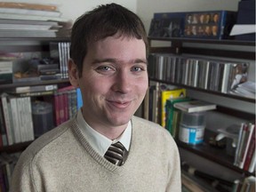
POLYGON ((44 101, 32 102, 32 116, 35 137, 53 128, 52 104, 44 101))

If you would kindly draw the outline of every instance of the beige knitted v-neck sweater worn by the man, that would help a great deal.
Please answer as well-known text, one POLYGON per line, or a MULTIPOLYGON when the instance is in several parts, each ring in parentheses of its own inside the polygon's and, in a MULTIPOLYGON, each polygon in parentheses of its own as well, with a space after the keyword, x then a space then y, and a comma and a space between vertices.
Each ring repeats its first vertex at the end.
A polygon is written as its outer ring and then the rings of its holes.
POLYGON ((180 156, 169 132, 132 117, 124 165, 111 164, 84 139, 76 118, 34 141, 20 156, 11 192, 180 192, 180 156))

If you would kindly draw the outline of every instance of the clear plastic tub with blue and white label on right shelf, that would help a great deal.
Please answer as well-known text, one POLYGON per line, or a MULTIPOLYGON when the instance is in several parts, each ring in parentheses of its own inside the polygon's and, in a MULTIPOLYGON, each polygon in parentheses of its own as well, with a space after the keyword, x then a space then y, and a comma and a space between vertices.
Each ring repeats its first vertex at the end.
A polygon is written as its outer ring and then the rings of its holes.
POLYGON ((179 140, 191 145, 204 141, 205 112, 181 112, 179 140))

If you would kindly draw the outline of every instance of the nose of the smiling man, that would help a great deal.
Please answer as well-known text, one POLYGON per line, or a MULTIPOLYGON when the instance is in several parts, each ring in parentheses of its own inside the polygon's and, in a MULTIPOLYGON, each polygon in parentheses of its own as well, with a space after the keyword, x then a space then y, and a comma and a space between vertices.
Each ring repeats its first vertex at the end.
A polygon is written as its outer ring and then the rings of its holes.
POLYGON ((132 91, 132 84, 134 82, 134 76, 129 74, 129 72, 119 71, 114 79, 113 91, 120 93, 128 93, 132 91))

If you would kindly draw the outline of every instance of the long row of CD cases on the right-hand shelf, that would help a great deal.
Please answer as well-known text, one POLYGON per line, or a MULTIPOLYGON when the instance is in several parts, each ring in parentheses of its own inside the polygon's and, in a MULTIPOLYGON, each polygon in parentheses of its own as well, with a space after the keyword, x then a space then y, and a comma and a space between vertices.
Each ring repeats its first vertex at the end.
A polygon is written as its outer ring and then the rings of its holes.
POLYGON ((247 81, 248 68, 247 62, 188 55, 152 53, 148 57, 150 78, 224 93, 247 81))

